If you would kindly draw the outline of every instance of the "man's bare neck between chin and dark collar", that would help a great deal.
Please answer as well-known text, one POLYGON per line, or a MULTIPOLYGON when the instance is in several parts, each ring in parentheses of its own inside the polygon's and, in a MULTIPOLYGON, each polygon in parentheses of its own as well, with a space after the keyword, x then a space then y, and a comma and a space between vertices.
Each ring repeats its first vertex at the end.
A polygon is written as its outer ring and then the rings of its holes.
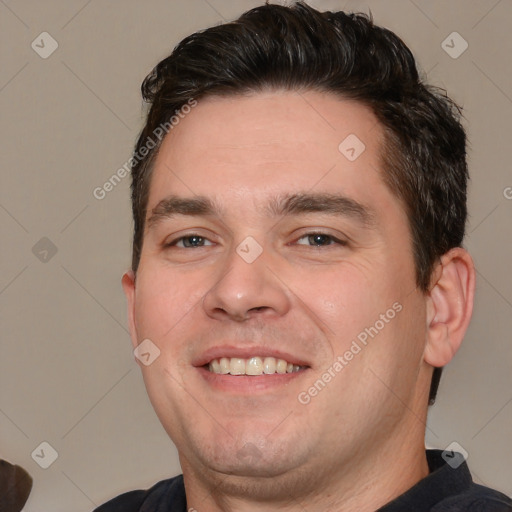
MULTIPOLYGON (((409 425, 410 427, 410 425, 409 425)), ((421 431, 421 429, 418 429, 421 431)), ((201 512, 372 512, 428 475, 423 436, 411 431, 341 468, 299 468, 272 479, 196 472, 182 458, 187 503, 201 512)))

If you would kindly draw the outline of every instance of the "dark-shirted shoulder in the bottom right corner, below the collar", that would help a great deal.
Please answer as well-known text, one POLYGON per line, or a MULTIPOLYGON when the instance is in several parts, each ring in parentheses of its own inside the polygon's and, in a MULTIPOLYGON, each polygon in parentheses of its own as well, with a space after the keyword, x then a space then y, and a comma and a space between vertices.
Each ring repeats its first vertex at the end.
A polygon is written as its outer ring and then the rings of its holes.
POLYGON ((512 500, 501 492, 473 483, 461 494, 438 503, 432 512, 512 512, 512 500))

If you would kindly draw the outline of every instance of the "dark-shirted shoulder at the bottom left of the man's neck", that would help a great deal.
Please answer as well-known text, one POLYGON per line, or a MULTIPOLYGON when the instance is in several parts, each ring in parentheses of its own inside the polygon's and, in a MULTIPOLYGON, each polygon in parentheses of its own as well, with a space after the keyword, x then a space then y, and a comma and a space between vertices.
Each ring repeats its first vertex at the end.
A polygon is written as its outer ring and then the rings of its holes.
POLYGON ((162 480, 151 489, 131 491, 111 499, 93 512, 156 512, 160 510, 176 510, 181 512, 185 503, 185 487, 183 475, 162 480), (169 509, 169 505, 175 505, 169 509))

